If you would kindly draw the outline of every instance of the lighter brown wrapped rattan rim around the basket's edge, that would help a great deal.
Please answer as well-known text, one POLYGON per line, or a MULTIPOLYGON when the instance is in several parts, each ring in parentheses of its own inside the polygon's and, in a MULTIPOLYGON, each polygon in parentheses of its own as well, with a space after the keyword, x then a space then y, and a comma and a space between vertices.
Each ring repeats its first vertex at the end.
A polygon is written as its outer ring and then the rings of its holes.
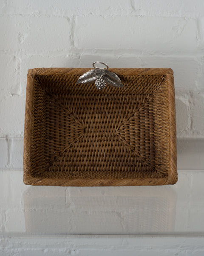
POLYGON ((173 70, 171 68, 110 68, 111 72, 118 75, 166 75, 168 90, 168 118, 169 118, 169 145, 170 169, 164 178, 135 178, 135 179, 57 179, 35 178, 29 173, 31 168, 31 125, 33 103, 33 81, 35 76, 48 75, 81 75, 90 68, 34 68, 28 70, 26 88, 26 111, 24 126, 24 152, 23 152, 23 182, 26 185, 43 186, 152 186, 175 184, 177 175, 176 151, 176 108, 173 70))

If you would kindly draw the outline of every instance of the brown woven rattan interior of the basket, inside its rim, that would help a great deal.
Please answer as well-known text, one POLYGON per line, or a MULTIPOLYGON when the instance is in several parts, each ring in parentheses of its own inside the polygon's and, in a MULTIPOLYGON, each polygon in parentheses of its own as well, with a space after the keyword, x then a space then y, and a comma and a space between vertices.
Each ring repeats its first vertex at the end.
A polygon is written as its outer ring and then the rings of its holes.
POLYGON ((73 86, 77 79, 76 75, 34 79, 31 175, 166 177, 170 158, 165 146, 166 77, 122 76, 125 88, 105 90, 94 84, 73 86))

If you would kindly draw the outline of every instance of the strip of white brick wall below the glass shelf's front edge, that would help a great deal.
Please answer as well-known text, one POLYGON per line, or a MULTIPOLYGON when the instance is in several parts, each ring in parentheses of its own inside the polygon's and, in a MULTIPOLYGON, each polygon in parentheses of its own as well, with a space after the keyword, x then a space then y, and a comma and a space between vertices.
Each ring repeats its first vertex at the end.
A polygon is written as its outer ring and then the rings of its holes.
POLYGON ((12 237, 9 241, 7 238, 2 238, 0 242, 4 246, 3 256, 203 256, 204 254, 201 237, 184 239, 171 236, 146 238, 63 236, 57 241, 53 237, 36 237, 35 241, 32 241, 28 236, 23 239, 12 237))

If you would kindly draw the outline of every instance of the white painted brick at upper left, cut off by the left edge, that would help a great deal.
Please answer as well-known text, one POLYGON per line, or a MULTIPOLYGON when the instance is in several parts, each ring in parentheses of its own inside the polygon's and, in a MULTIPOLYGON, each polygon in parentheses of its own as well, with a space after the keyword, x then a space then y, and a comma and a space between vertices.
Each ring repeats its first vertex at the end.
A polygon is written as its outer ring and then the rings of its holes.
POLYGON ((3 15, 0 23, 6 24, 2 26, 0 50, 30 54, 70 50, 71 27, 68 17, 3 15))

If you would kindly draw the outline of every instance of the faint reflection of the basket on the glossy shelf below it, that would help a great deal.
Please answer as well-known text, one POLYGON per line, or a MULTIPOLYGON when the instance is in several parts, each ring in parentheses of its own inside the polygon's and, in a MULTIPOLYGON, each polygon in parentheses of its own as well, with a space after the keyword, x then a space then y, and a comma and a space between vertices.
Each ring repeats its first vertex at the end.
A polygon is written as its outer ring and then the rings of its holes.
POLYGON ((26 232, 172 233, 176 200, 170 186, 29 187, 24 193, 26 232))

